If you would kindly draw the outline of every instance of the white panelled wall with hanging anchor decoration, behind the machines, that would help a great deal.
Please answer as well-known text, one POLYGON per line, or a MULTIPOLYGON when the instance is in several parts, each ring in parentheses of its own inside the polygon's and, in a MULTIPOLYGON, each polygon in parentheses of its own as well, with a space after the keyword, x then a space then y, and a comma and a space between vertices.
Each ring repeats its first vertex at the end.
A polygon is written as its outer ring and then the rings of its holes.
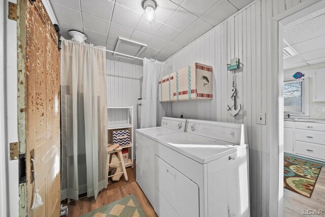
POLYGON ((246 124, 252 216, 268 216, 270 207, 267 177, 271 147, 267 145, 267 126, 256 124, 257 112, 268 112, 268 18, 300 2, 257 1, 166 60, 173 65, 174 72, 194 62, 213 67, 213 100, 172 103, 172 116, 179 117, 183 113, 184 118, 246 124), (233 117, 227 106, 232 105, 232 73, 227 71, 226 64, 235 57, 240 59, 240 69, 235 72, 235 85, 237 105, 241 104, 242 109, 233 117))

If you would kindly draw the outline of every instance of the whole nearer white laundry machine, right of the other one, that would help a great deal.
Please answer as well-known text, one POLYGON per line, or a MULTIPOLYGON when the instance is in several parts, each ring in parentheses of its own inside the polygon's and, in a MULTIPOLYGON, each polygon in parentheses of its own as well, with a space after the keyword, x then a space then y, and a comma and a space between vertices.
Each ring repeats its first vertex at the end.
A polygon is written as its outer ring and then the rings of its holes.
POLYGON ((154 140, 158 216, 250 216, 245 125, 188 119, 154 140))

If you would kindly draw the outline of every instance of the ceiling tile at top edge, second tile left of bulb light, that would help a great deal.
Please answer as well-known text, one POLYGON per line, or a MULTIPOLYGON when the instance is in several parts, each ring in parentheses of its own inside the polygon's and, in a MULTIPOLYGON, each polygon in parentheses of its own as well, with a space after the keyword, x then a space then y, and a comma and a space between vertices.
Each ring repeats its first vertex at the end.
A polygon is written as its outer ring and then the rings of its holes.
POLYGON ((114 2, 109 0, 80 0, 80 3, 82 12, 111 20, 114 2))

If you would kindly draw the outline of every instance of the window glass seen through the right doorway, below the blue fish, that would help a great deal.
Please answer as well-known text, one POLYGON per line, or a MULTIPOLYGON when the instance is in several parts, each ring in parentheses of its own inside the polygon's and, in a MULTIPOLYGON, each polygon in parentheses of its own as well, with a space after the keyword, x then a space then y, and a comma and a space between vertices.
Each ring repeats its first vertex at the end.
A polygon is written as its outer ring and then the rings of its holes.
POLYGON ((283 84, 284 112, 303 113, 303 82, 283 84))

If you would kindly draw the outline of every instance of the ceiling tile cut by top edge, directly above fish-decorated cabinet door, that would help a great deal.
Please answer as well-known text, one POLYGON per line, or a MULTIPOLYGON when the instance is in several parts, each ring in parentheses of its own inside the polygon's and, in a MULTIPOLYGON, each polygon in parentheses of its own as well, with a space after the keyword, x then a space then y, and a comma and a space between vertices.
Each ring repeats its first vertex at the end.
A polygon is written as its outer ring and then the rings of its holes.
POLYGON ((205 0, 203 4, 202 0, 185 0, 182 7, 200 17, 217 2, 218 0, 205 0))

